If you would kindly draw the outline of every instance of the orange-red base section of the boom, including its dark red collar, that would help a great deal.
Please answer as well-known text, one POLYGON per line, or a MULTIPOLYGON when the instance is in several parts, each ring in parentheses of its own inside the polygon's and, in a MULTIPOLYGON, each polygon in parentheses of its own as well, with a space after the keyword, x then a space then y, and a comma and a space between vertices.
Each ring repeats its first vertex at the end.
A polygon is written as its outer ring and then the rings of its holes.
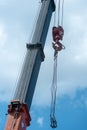
POLYGON ((11 101, 8 106, 8 120, 5 130, 26 130, 30 121, 27 104, 20 103, 19 100, 11 101))

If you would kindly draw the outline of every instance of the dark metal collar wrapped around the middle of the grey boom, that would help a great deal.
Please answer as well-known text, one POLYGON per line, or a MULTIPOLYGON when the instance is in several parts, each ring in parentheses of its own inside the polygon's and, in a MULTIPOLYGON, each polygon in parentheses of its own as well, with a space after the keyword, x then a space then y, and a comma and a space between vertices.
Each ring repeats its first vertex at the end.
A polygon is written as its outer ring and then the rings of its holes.
POLYGON ((41 61, 44 61, 45 55, 44 55, 44 51, 43 51, 43 47, 41 43, 37 43, 37 44, 26 44, 27 49, 40 49, 40 56, 41 56, 41 61))

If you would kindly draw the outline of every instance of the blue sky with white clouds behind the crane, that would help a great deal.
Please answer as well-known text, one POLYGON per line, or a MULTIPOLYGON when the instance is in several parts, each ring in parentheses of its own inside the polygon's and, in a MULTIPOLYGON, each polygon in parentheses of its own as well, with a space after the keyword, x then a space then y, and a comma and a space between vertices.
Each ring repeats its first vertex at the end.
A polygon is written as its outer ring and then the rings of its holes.
MULTIPOLYGON (((7 104, 16 88, 39 5, 40 0, 0 0, 0 129, 4 129, 7 104)), ((58 57, 56 117, 59 130, 87 130, 86 14, 86 0, 65 0, 63 44, 66 49, 58 57)), ((32 102, 30 130, 51 129, 52 26, 53 17, 44 50, 46 58, 32 102)))

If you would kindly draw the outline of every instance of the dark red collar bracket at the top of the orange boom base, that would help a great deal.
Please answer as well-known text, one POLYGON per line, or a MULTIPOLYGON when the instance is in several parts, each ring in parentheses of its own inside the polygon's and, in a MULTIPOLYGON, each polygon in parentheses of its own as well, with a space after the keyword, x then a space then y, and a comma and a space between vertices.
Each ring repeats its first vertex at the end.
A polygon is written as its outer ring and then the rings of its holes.
POLYGON ((19 100, 11 101, 11 104, 8 105, 8 114, 11 116, 13 115, 14 119, 18 119, 19 116, 22 116, 22 120, 24 121, 26 126, 30 125, 31 116, 26 103, 20 103, 19 100))

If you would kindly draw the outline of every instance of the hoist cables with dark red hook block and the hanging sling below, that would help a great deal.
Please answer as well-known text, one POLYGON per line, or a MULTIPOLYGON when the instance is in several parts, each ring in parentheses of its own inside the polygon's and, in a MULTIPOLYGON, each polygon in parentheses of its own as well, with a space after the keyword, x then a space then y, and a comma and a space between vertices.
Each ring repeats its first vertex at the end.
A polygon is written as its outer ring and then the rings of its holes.
POLYGON ((65 47, 60 43, 60 40, 62 40, 64 30, 62 28, 63 26, 63 8, 64 8, 64 0, 62 0, 62 3, 60 3, 60 0, 56 0, 56 11, 54 14, 54 27, 52 30, 53 40, 52 43, 54 48, 54 65, 53 65, 53 79, 52 79, 52 86, 51 86, 51 111, 50 111, 50 121, 51 121, 51 127, 56 128, 57 127, 57 121, 55 118, 55 108, 56 108, 56 95, 57 95, 57 57, 58 52, 64 49, 65 47), (62 10, 61 10, 62 9, 62 10), (58 19, 56 20, 56 14, 58 15, 58 19), (61 15, 61 17, 60 17, 61 15), (57 27, 55 27, 57 21, 57 27))

